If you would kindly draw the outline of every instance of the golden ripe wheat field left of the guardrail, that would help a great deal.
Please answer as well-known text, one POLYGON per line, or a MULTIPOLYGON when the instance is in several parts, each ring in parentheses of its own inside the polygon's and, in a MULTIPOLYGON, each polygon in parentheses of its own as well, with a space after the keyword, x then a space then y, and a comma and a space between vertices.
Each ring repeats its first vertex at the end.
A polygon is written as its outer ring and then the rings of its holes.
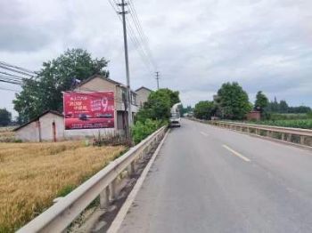
POLYGON ((124 151, 83 141, 0 143, 0 232, 20 228, 124 151))

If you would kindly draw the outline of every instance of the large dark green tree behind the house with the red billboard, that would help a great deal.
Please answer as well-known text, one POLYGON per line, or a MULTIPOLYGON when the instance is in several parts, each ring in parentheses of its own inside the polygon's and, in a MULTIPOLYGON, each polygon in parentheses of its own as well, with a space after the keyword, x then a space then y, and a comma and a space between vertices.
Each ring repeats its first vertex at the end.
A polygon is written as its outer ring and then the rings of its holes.
POLYGON ((24 80, 21 93, 13 100, 14 109, 21 121, 41 114, 47 109, 62 111, 62 92, 74 87, 75 78, 80 81, 89 76, 109 76, 108 61, 104 58, 92 59, 91 54, 82 49, 71 49, 58 58, 43 63, 36 79, 24 80))

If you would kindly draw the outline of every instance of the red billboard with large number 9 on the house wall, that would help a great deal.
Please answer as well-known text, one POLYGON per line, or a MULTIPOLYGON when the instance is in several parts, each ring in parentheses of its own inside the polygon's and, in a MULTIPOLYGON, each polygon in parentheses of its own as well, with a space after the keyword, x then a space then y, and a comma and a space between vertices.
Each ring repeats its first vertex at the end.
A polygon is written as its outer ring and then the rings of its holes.
POLYGON ((114 92, 63 92, 65 129, 114 128, 114 92))

